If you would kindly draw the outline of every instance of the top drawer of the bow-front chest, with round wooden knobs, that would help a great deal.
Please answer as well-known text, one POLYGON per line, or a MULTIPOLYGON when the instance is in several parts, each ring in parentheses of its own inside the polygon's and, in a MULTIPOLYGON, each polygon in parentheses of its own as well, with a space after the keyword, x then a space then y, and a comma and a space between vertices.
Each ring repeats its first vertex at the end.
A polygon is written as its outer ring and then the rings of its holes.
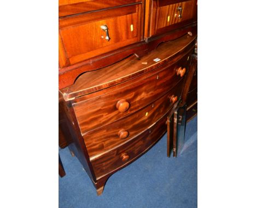
MULTIPOLYGON (((149 77, 142 76, 138 82, 127 82, 127 85, 110 93, 93 97, 89 100, 74 103, 74 112, 82 134, 138 111, 164 95, 173 88, 185 74, 177 75, 180 69, 188 69, 188 57, 185 56, 173 65, 163 65, 161 70, 149 77)), ((186 72, 187 73, 187 72, 186 72)))

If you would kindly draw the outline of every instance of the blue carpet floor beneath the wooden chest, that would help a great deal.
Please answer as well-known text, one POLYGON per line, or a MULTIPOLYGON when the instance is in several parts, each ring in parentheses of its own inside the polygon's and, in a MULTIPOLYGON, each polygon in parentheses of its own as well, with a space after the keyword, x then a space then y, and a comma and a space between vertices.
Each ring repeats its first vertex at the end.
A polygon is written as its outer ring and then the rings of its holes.
POLYGON ((60 208, 197 207, 197 117, 189 121, 177 158, 166 156, 166 134, 146 154, 110 176, 101 196, 69 150, 60 150, 60 208))

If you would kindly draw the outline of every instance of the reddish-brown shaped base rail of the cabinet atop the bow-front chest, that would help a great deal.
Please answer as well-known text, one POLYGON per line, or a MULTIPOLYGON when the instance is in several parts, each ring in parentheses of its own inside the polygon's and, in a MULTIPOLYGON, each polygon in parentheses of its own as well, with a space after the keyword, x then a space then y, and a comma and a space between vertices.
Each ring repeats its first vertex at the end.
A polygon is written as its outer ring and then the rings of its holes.
MULTIPOLYGON (((109 65, 116 64, 120 60, 123 60, 124 58, 135 53, 139 57, 145 56, 148 52, 154 51, 155 48, 161 42, 166 42, 170 40, 175 40, 177 38, 181 38, 182 36, 184 36, 185 34, 191 31, 193 35, 196 35, 196 31, 197 31, 196 24, 193 24, 191 26, 186 26, 181 29, 176 29, 166 34, 161 34, 158 37, 148 39, 147 42, 146 41, 137 42, 136 44, 132 44, 111 52, 104 53, 104 55, 102 56, 95 56, 88 60, 79 62, 77 64, 59 68, 59 89, 63 89, 69 85, 74 84, 77 77, 79 75, 82 75, 83 72, 96 71, 98 69, 102 69, 109 65)), ((194 45, 194 43, 191 42, 191 45, 194 45)), ((176 47, 179 47, 178 43, 176 47)), ((188 47, 188 46, 184 46, 184 47, 188 47)), ((173 49, 174 49, 173 52, 175 52, 175 48, 173 49)))

